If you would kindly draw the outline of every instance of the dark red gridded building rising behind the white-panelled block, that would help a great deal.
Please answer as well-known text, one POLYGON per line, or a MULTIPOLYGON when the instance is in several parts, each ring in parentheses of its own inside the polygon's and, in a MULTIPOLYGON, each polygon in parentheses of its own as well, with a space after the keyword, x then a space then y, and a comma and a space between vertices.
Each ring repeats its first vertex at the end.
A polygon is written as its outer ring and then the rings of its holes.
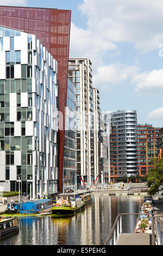
MULTIPOLYGON (((35 35, 58 62, 58 190, 62 191, 71 10, 0 6, 0 26, 35 35)), ((12 72, 12 69, 11 69, 12 72)))

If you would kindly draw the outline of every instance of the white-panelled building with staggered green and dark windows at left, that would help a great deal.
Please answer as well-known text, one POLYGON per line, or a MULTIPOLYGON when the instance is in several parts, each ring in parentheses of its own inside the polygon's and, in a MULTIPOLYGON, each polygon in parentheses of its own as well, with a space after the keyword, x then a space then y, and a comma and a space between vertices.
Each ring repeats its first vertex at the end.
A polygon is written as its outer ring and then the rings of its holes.
POLYGON ((57 61, 33 34, 0 26, 0 186, 55 191, 57 61))

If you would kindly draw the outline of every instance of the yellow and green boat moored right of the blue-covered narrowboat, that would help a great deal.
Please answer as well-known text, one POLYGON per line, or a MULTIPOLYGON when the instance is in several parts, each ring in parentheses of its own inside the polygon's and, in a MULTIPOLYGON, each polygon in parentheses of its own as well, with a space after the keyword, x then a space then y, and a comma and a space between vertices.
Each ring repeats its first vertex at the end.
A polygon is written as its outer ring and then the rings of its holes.
POLYGON ((84 208, 85 201, 82 197, 58 196, 56 203, 51 206, 52 214, 71 214, 84 208))

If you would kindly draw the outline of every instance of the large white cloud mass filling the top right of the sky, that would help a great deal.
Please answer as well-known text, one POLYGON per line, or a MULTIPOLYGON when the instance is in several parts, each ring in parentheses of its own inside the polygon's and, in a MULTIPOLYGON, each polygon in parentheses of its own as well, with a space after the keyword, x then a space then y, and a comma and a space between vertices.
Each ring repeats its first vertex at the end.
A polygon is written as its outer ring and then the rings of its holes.
POLYGON ((98 66, 106 51, 118 50, 117 42, 134 42, 141 53, 163 42, 162 0, 83 0, 79 10, 86 17, 87 28, 72 23, 72 58, 85 56, 98 66))

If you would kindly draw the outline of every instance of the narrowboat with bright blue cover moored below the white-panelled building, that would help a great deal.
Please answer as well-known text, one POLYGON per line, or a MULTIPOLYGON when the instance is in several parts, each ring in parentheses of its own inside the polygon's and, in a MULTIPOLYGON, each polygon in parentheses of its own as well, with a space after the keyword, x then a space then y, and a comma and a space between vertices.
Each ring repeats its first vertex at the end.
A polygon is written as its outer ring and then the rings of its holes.
POLYGON ((51 211, 51 199, 29 200, 21 203, 9 203, 6 214, 39 214, 40 212, 51 211))

